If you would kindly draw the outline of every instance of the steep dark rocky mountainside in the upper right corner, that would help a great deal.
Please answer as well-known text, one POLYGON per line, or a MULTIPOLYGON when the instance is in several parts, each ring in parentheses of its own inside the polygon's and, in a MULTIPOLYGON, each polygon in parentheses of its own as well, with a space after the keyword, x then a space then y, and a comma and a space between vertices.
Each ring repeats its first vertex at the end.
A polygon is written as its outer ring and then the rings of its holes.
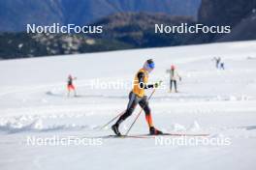
POLYGON ((202 35, 199 42, 255 40, 256 0, 202 0, 198 22, 232 26, 231 34, 202 35))

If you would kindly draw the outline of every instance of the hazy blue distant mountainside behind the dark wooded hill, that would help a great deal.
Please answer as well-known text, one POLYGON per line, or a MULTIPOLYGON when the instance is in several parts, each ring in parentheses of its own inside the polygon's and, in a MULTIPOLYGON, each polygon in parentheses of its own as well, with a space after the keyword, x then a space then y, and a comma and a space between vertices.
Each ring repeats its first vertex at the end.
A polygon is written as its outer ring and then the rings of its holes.
POLYGON ((0 31, 24 31, 27 23, 84 25, 126 12, 196 16, 201 0, 8 0, 0 1, 0 31))

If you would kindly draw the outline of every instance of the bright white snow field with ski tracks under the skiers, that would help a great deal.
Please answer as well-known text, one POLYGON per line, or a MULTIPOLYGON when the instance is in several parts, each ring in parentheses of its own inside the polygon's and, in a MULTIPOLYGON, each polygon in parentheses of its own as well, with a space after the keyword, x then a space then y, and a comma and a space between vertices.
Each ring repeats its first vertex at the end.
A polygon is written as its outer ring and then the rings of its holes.
MULTIPOLYGON (((0 61, 0 169, 235 169, 256 168, 256 42, 225 42, 0 61), (225 71, 211 60, 220 56, 225 71), (130 82, 144 61, 150 80, 175 64, 180 93, 158 89, 150 100, 154 125, 168 132, 209 133, 228 146, 159 146, 154 138, 104 138, 101 146, 29 146, 27 136, 107 136, 98 128, 125 109, 129 88, 91 89, 90 83, 130 82), (66 79, 79 98, 67 98, 66 79)), ((151 90, 148 90, 149 94, 151 90)), ((120 130, 125 132, 134 114, 120 130)), ((130 134, 147 133, 141 115, 130 134)), ((169 137, 170 138, 170 137, 169 137)), ((172 136, 171 138, 177 138, 172 136)))

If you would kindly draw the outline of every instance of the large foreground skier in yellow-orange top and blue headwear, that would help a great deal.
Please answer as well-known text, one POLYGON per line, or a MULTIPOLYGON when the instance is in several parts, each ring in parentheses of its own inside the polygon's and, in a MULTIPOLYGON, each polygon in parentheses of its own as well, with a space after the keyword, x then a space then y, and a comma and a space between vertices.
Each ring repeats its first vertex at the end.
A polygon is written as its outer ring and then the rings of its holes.
POLYGON ((151 135, 162 134, 163 132, 154 128, 153 121, 151 117, 151 110, 148 106, 147 97, 144 94, 144 89, 148 88, 157 88, 160 83, 155 84, 147 84, 148 75, 154 69, 154 62, 152 59, 147 60, 144 63, 144 67, 138 71, 134 78, 133 90, 130 92, 129 95, 129 103, 127 106, 126 111, 119 117, 117 122, 112 126, 112 130, 116 135, 121 135, 118 128, 119 125, 129 116, 132 115, 134 109, 136 108, 137 104, 139 103, 140 106, 144 109, 145 113, 145 120, 149 128, 149 133, 151 135))

